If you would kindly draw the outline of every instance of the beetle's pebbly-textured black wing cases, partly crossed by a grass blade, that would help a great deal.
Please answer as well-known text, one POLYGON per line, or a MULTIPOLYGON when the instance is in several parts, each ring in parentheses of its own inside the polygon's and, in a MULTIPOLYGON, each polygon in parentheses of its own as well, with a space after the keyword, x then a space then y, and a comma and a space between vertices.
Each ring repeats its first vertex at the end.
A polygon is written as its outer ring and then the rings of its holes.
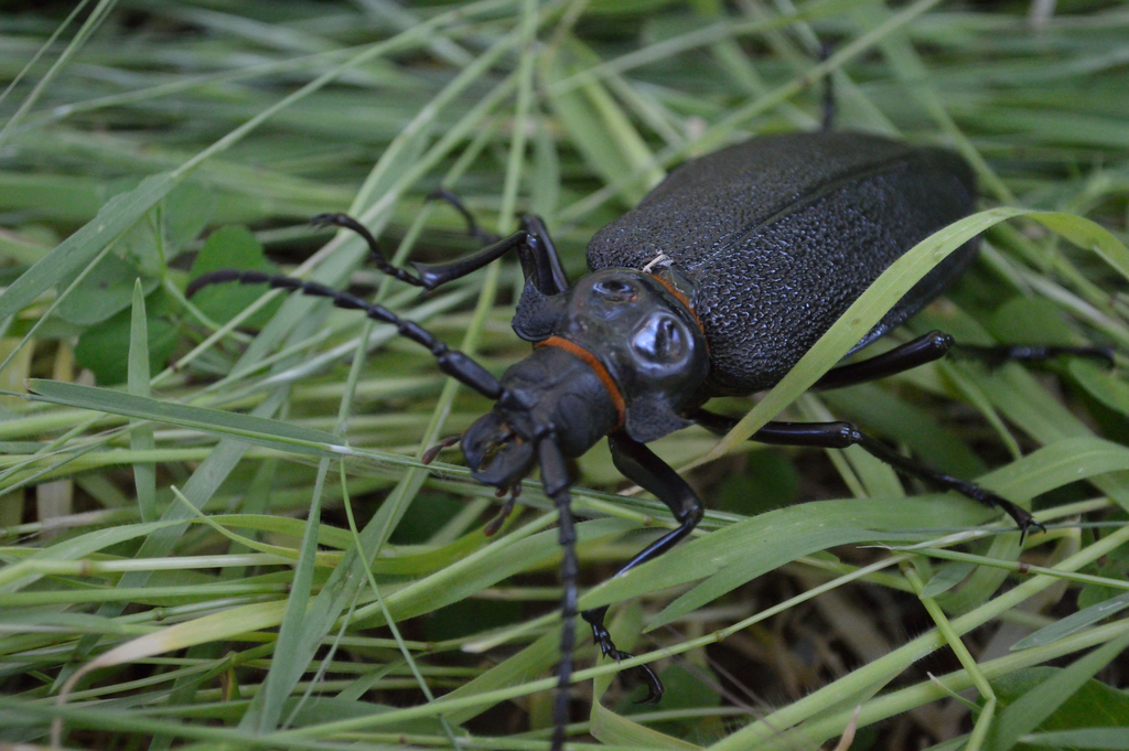
MULTIPOLYGON (((590 269, 659 254, 695 286, 711 395, 776 384, 878 276, 972 211, 955 154, 859 133, 758 138, 689 161, 588 244, 590 269)), ((969 243, 858 344, 902 323, 975 254, 969 243)), ((856 348, 857 349, 857 348, 856 348)))

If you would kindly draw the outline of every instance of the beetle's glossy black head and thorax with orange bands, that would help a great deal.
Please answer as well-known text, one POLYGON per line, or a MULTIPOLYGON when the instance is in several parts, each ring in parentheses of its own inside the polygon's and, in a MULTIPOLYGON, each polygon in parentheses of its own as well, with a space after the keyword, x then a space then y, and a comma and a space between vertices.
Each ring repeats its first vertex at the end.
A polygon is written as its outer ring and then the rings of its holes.
POLYGON ((492 412, 463 436, 474 477, 508 489, 534 463, 551 433, 566 456, 623 429, 649 442, 689 421, 681 417, 706 379, 704 334, 683 292, 634 269, 605 269, 560 295, 526 288, 515 318, 536 342, 502 376, 492 412))

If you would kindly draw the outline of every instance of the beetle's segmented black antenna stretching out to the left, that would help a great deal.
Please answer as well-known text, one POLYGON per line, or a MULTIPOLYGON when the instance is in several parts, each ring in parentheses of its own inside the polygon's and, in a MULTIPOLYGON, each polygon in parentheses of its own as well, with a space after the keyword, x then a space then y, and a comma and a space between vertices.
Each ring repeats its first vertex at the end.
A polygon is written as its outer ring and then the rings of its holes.
POLYGON ((316 281, 305 281, 287 277, 286 274, 265 273, 263 271, 220 269, 219 271, 210 271, 193 279, 184 290, 184 294, 187 297, 192 297, 210 285, 233 281, 240 285, 270 285, 274 289, 287 289, 312 297, 329 297, 336 307, 348 311, 360 311, 374 321, 391 323, 396 328, 396 332, 401 337, 411 339, 417 344, 421 344, 430 350, 439 364, 439 369, 445 374, 456 378, 460 383, 470 386, 488 399, 498 399, 501 396, 502 388, 498 379, 472 359, 470 355, 457 349, 450 349, 420 324, 414 321, 401 318, 383 305, 369 304, 368 300, 356 295, 326 287, 316 281))

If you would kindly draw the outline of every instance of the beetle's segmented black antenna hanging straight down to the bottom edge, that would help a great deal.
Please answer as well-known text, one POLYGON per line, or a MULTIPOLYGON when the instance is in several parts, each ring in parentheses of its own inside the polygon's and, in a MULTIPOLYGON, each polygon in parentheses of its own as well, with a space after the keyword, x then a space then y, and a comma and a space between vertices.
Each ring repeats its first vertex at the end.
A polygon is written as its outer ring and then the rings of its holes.
POLYGON ((572 680, 572 647, 576 645, 576 524, 572 519, 572 499, 568 489, 572 483, 564 455, 550 433, 537 443, 541 481, 545 495, 557 505, 559 514, 558 539, 561 545, 561 662, 557 669, 557 695, 553 698, 553 740, 551 751, 564 745, 564 730, 569 718, 569 684, 572 680))

